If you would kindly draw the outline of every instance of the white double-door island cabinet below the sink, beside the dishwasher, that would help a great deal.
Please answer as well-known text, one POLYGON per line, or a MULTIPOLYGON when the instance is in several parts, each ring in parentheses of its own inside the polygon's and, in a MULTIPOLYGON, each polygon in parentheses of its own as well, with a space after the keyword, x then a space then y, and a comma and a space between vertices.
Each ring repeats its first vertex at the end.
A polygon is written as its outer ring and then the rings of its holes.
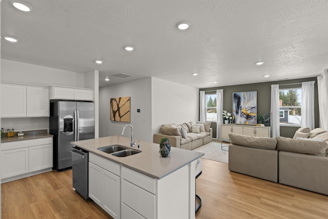
POLYGON ((114 218, 120 218, 119 175, 119 164, 89 153, 89 197, 114 218))

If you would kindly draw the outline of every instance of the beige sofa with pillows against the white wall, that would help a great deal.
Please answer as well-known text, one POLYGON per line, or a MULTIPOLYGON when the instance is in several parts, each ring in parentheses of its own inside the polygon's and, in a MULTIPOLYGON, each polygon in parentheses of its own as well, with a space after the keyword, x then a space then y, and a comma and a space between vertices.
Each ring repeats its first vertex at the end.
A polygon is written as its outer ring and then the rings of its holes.
POLYGON ((163 124, 159 133, 154 134, 153 143, 159 144, 167 137, 172 147, 193 150, 212 141, 211 122, 189 122, 163 124))

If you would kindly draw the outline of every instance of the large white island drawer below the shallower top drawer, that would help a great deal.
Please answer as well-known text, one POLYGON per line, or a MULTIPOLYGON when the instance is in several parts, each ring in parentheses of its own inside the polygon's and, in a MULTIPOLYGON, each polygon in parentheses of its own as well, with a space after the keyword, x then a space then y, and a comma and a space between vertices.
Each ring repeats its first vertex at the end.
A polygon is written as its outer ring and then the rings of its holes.
POLYGON ((156 218, 156 196, 126 180, 121 180, 121 202, 146 218, 156 218))

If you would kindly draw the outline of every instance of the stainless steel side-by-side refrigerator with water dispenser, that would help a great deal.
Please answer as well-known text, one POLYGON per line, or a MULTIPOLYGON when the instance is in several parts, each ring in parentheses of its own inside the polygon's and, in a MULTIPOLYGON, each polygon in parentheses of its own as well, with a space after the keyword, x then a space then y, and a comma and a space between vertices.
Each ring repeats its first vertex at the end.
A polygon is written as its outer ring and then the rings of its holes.
POLYGON ((54 136, 53 168, 61 171, 72 167, 70 143, 94 138, 94 103, 51 102, 49 126, 54 136))

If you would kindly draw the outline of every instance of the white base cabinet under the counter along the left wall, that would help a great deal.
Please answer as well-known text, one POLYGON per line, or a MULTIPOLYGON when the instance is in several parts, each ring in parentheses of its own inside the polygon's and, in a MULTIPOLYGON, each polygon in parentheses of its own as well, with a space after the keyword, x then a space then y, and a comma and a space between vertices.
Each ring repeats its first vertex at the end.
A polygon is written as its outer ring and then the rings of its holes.
POLYGON ((52 137, 1 143, 1 183, 51 171, 52 137))

